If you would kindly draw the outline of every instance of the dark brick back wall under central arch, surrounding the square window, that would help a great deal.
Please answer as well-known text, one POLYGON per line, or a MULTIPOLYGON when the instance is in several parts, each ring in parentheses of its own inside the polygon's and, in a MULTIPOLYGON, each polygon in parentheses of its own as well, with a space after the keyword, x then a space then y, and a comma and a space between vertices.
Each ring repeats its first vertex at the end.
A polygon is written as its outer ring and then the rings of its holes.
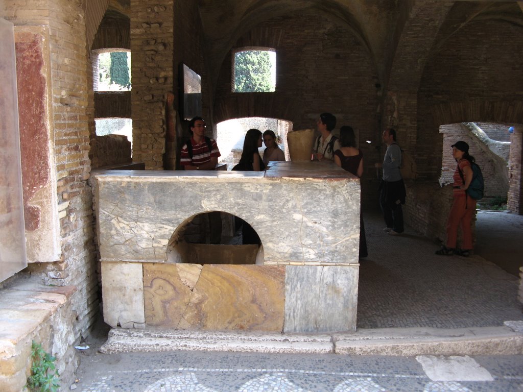
MULTIPOLYGON (((350 31, 319 14, 303 11, 273 18, 246 33, 233 45, 276 50, 275 93, 231 93, 232 55, 226 56, 218 79, 214 120, 271 117, 288 120, 293 129, 316 129, 322 112, 332 112, 337 126, 359 132, 364 177, 374 177, 380 150, 376 66, 368 50, 350 31), (371 144, 366 143, 370 140, 371 144)), ((374 197, 370 189, 368 197, 374 197)))

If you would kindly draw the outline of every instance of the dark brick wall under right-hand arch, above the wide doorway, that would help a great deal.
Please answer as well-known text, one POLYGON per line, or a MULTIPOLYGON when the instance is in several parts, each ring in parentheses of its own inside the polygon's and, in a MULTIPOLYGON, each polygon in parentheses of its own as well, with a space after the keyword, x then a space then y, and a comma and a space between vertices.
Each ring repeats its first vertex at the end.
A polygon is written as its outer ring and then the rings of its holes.
POLYGON ((441 162, 439 125, 462 121, 510 122, 520 116, 523 85, 521 27, 498 20, 468 24, 432 54, 418 100, 418 170, 434 177, 441 162), (500 72, 503 70, 503 72, 500 72), (489 103, 489 102, 505 102, 489 103), (445 105, 439 122, 438 105, 445 105), (518 114, 519 112, 519 114, 518 114))

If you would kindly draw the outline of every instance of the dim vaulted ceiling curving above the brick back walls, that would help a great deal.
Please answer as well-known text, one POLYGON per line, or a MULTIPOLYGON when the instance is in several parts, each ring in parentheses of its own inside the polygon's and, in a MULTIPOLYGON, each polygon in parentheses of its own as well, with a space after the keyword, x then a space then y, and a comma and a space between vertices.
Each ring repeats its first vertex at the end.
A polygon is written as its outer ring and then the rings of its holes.
MULTIPOLYGON (((89 10, 100 14, 99 10, 107 9, 108 4, 122 14, 130 10, 130 0, 85 1, 87 14, 89 10)), ((319 21, 327 18, 352 31, 369 51, 382 82, 391 81, 397 87, 404 81, 394 75, 394 68, 420 74, 430 51, 437 50, 469 23, 498 19, 523 26, 523 2, 516 1, 198 0, 197 5, 213 80, 226 54, 243 34, 261 22, 305 9, 315 11, 319 21)), ((94 37, 97 25, 89 24, 99 24, 103 14, 87 16, 88 41, 92 42, 89 35, 94 37)), ((412 77, 408 79, 412 83, 412 77)))

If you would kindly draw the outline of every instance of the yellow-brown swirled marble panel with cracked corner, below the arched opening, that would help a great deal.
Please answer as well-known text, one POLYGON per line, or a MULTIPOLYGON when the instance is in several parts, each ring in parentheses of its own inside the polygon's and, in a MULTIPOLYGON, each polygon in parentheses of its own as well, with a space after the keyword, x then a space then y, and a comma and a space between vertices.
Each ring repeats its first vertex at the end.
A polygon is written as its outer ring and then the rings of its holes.
POLYGON ((285 267, 145 263, 147 326, 282 331, 285 267))

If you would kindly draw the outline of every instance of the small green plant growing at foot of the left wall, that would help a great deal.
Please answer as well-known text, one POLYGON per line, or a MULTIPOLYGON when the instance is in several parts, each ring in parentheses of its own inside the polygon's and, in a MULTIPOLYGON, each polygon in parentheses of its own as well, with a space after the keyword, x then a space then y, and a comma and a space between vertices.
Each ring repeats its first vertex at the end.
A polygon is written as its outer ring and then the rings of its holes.
POLYGON ((58 371, 54 365, 56 358, 42 349, 42 345, 34 340, 31 345, 31 375, 27 379, 26 387, 33 392, 56 392, 58 384, 58 371))

